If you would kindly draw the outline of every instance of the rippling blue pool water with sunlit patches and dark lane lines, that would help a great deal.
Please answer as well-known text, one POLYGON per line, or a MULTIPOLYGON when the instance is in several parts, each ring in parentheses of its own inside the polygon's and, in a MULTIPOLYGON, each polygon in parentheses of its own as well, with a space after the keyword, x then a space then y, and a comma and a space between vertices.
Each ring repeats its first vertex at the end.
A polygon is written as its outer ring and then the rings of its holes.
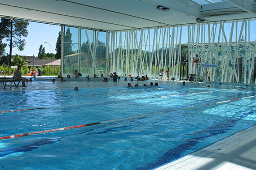
POLYGON ((255 97, 216 103, 256 95, 255 88, 238 88, 162 84, 1 91, 0 111, 46 109, 1 113, 0 137, 114 121, 0 140, 0 169, 153 169, 256 124, 255 97), (185 93, 190 94, 175 96, 185 93))

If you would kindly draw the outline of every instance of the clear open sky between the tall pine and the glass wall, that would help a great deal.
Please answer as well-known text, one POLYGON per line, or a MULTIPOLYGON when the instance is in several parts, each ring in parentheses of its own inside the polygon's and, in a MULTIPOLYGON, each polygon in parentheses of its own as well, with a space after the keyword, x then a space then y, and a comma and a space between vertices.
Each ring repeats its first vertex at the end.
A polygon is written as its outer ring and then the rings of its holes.
MULTIPOLYGON (((23 51, 18 51, 18 48, 13 48, 12 55, 26 55, 32 56, 38 55, 39 47, 42 44, 45 48, 45 53, 52 53, 53 47, 53 54, 56 54, 56 42, 58 38, 58 33, 61 31, 61 26, 56 25, 49 25, 37 22, 29 22, 29 26, 27 27, 28 35, 25 37, 25 48, 23 51), (47 42, 47 43, 44 43, 47 42), (49 44, 51 45, 49 45, 49 44)), ((5 40, 4 40, 5 41, 5 40)), ((7 43, 4 42, 3 43, 7 43)), ((9 44, 9 43, 8 43, 9 44)), ((9 46, 5 48, 5 52, 9 54, 9 46)))

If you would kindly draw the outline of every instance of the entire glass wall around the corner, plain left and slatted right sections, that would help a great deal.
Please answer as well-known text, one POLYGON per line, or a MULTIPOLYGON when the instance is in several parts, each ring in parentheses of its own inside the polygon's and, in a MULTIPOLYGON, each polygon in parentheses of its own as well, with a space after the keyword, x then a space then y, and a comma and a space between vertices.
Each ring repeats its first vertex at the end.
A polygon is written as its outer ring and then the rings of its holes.
POLYGON ((196 74, 204 81, 255 84, 255 27, 256 21, 249 19, 112 32, 65 27, 62 68, 64 75, 77 69, 83 75, 117 72, 154 78, 170 68, 175 80, 196 74), (193 64, 196 54, 198 67, 193 64))

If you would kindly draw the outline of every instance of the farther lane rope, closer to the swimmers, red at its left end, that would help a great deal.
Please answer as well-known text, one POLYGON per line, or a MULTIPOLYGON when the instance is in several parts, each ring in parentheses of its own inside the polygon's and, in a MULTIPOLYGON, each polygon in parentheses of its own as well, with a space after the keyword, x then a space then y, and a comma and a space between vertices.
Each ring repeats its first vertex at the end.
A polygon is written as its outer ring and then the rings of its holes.
MULTIPOLYGON (((246 87, 246 88, 239 88, 239 89, 249 89, 249 88, 246 87)), ((238 90, 238 89, 230 89, 230 90, 238 90)), ((132 99, 124 99, 124 100, 105 101, 105 102, 124 102, 124 101, 129 101, 129 100, 141 100, 141 99, 148 99, 148 98, 165 98, 165 97, 172 97, 172 96, 182 96, 182 95, 188 95, 188 94, 200 94, 200 93, 212 93, 212 92, 213 91, 198 92, 198 93, 185 93, 185 94, 173 94, 173 95, 168 95, 168 96, 156 96, 156 97, 147 97, 147 98, 132 98, 132 99)), ((81 104, 73 104, 73 105, 65 105, 65 106, 39 107, 39 108, 20 109, 20 110, 5 110, 5 111, 0 111, 0 114, 1 113, 7 113, 7 112, 13 112, 13 111, 24 111, 24 110, 49 109, 49 108, 57 108, 57 107, 101 104, 101 103, 105 103, 105 102, 81 103, 81 104)))

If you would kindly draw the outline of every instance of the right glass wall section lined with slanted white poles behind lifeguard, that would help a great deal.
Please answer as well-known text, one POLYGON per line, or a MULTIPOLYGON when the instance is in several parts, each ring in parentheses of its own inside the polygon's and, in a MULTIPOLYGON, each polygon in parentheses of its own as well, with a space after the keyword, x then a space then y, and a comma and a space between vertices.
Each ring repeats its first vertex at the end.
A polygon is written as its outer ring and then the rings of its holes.
POLYGON ((170 68, 175 80, 195 74, 203 81, 255 84, 255 26, 255 20, 243 20, 111 32, 109 70, 157 78, 161 69, 170 68))

